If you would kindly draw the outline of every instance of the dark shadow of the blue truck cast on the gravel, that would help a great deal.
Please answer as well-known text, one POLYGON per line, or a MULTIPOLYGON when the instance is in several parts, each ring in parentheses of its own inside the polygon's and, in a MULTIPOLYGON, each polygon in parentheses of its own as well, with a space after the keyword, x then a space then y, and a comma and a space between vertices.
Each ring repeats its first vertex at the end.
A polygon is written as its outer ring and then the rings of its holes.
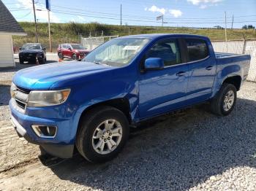
POLYGON ((140 125, 108 163, 75 155, 50 168, 60 179, 100 190, 188 190, 230 168, 256 168, 256 102, 238 98, 227 117, 207 108, 202 104, 140 125))

